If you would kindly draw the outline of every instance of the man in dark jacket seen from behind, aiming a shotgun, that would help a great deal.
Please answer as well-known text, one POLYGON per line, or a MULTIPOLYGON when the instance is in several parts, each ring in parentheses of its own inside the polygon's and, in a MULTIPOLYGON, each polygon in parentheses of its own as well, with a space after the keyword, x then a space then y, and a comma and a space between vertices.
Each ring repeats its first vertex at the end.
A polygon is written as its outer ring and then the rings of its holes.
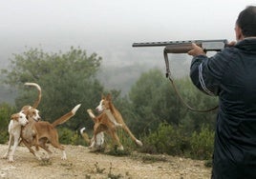
POLYGON ((237 43, 207 57, 192 45, 190 77, 208 95, 219 96, 213 179, 256 178, 256 7, 241 11, 237 43))

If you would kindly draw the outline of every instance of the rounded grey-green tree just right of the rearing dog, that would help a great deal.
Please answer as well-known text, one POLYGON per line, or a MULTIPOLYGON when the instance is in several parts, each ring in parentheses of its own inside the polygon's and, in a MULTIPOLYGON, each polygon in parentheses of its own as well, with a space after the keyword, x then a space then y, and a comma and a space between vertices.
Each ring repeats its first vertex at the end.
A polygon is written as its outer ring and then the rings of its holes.
POLYGON ((132 127, 135 131, 157 129, 163 121, 179 124, 181 103, 160 70, 142 73, 129 97, 137 117, 132 127))

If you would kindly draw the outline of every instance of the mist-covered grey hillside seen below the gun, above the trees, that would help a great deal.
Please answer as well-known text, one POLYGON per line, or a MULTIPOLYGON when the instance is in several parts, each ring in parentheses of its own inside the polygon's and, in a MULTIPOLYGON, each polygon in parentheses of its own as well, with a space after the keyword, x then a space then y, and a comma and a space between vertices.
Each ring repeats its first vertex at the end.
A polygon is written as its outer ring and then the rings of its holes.
MULTIPOLYGON (((170 70, 175 78, 180 78, 189 73, 190 60, 185 55, 171 55, 170 70)), ((121 94, 125 95, 131 87, 139 80, 142 72, 150 69, 162 70, 162 77, 165 78, 165 64, 163 57, 161 61, 152 62, 142 60, 141 63, 135 62, 124 66, 102 66, 98 73, 98 79, 106 89, 120 89, 121 94), (155 64, 155 65, 153 65, 155 64)))

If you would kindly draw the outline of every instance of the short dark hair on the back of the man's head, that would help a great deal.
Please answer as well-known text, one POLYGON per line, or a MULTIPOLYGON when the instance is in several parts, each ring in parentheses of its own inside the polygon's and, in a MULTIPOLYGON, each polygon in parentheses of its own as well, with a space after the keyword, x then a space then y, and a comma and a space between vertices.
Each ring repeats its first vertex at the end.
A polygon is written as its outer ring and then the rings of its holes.
POLYGON ((245 37, 256 36, 256 7, 248 6, 238 15, 237 26, 245 37))

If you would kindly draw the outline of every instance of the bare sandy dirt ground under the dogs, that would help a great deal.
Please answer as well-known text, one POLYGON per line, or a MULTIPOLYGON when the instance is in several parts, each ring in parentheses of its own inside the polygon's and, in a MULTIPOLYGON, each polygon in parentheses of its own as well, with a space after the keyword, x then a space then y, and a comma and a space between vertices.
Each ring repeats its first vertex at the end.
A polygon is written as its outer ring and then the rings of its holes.
MULTIPOLYGON (((27 148, 20 146, 15 152, 13 163, 0 159, 0 178, 209 179, 211 173, 210 168, 204 167, 203 161, 169 155, 135 152, 129 156, 112 156, 90 152, 82 146, 68 145, 65 148, 67 160, 61 160, 62 153, 51 148, 54 151, 51 159, 38 161, 27 148)), ((6 149, 7 145, 0 145, 0 157, 6 149)))

